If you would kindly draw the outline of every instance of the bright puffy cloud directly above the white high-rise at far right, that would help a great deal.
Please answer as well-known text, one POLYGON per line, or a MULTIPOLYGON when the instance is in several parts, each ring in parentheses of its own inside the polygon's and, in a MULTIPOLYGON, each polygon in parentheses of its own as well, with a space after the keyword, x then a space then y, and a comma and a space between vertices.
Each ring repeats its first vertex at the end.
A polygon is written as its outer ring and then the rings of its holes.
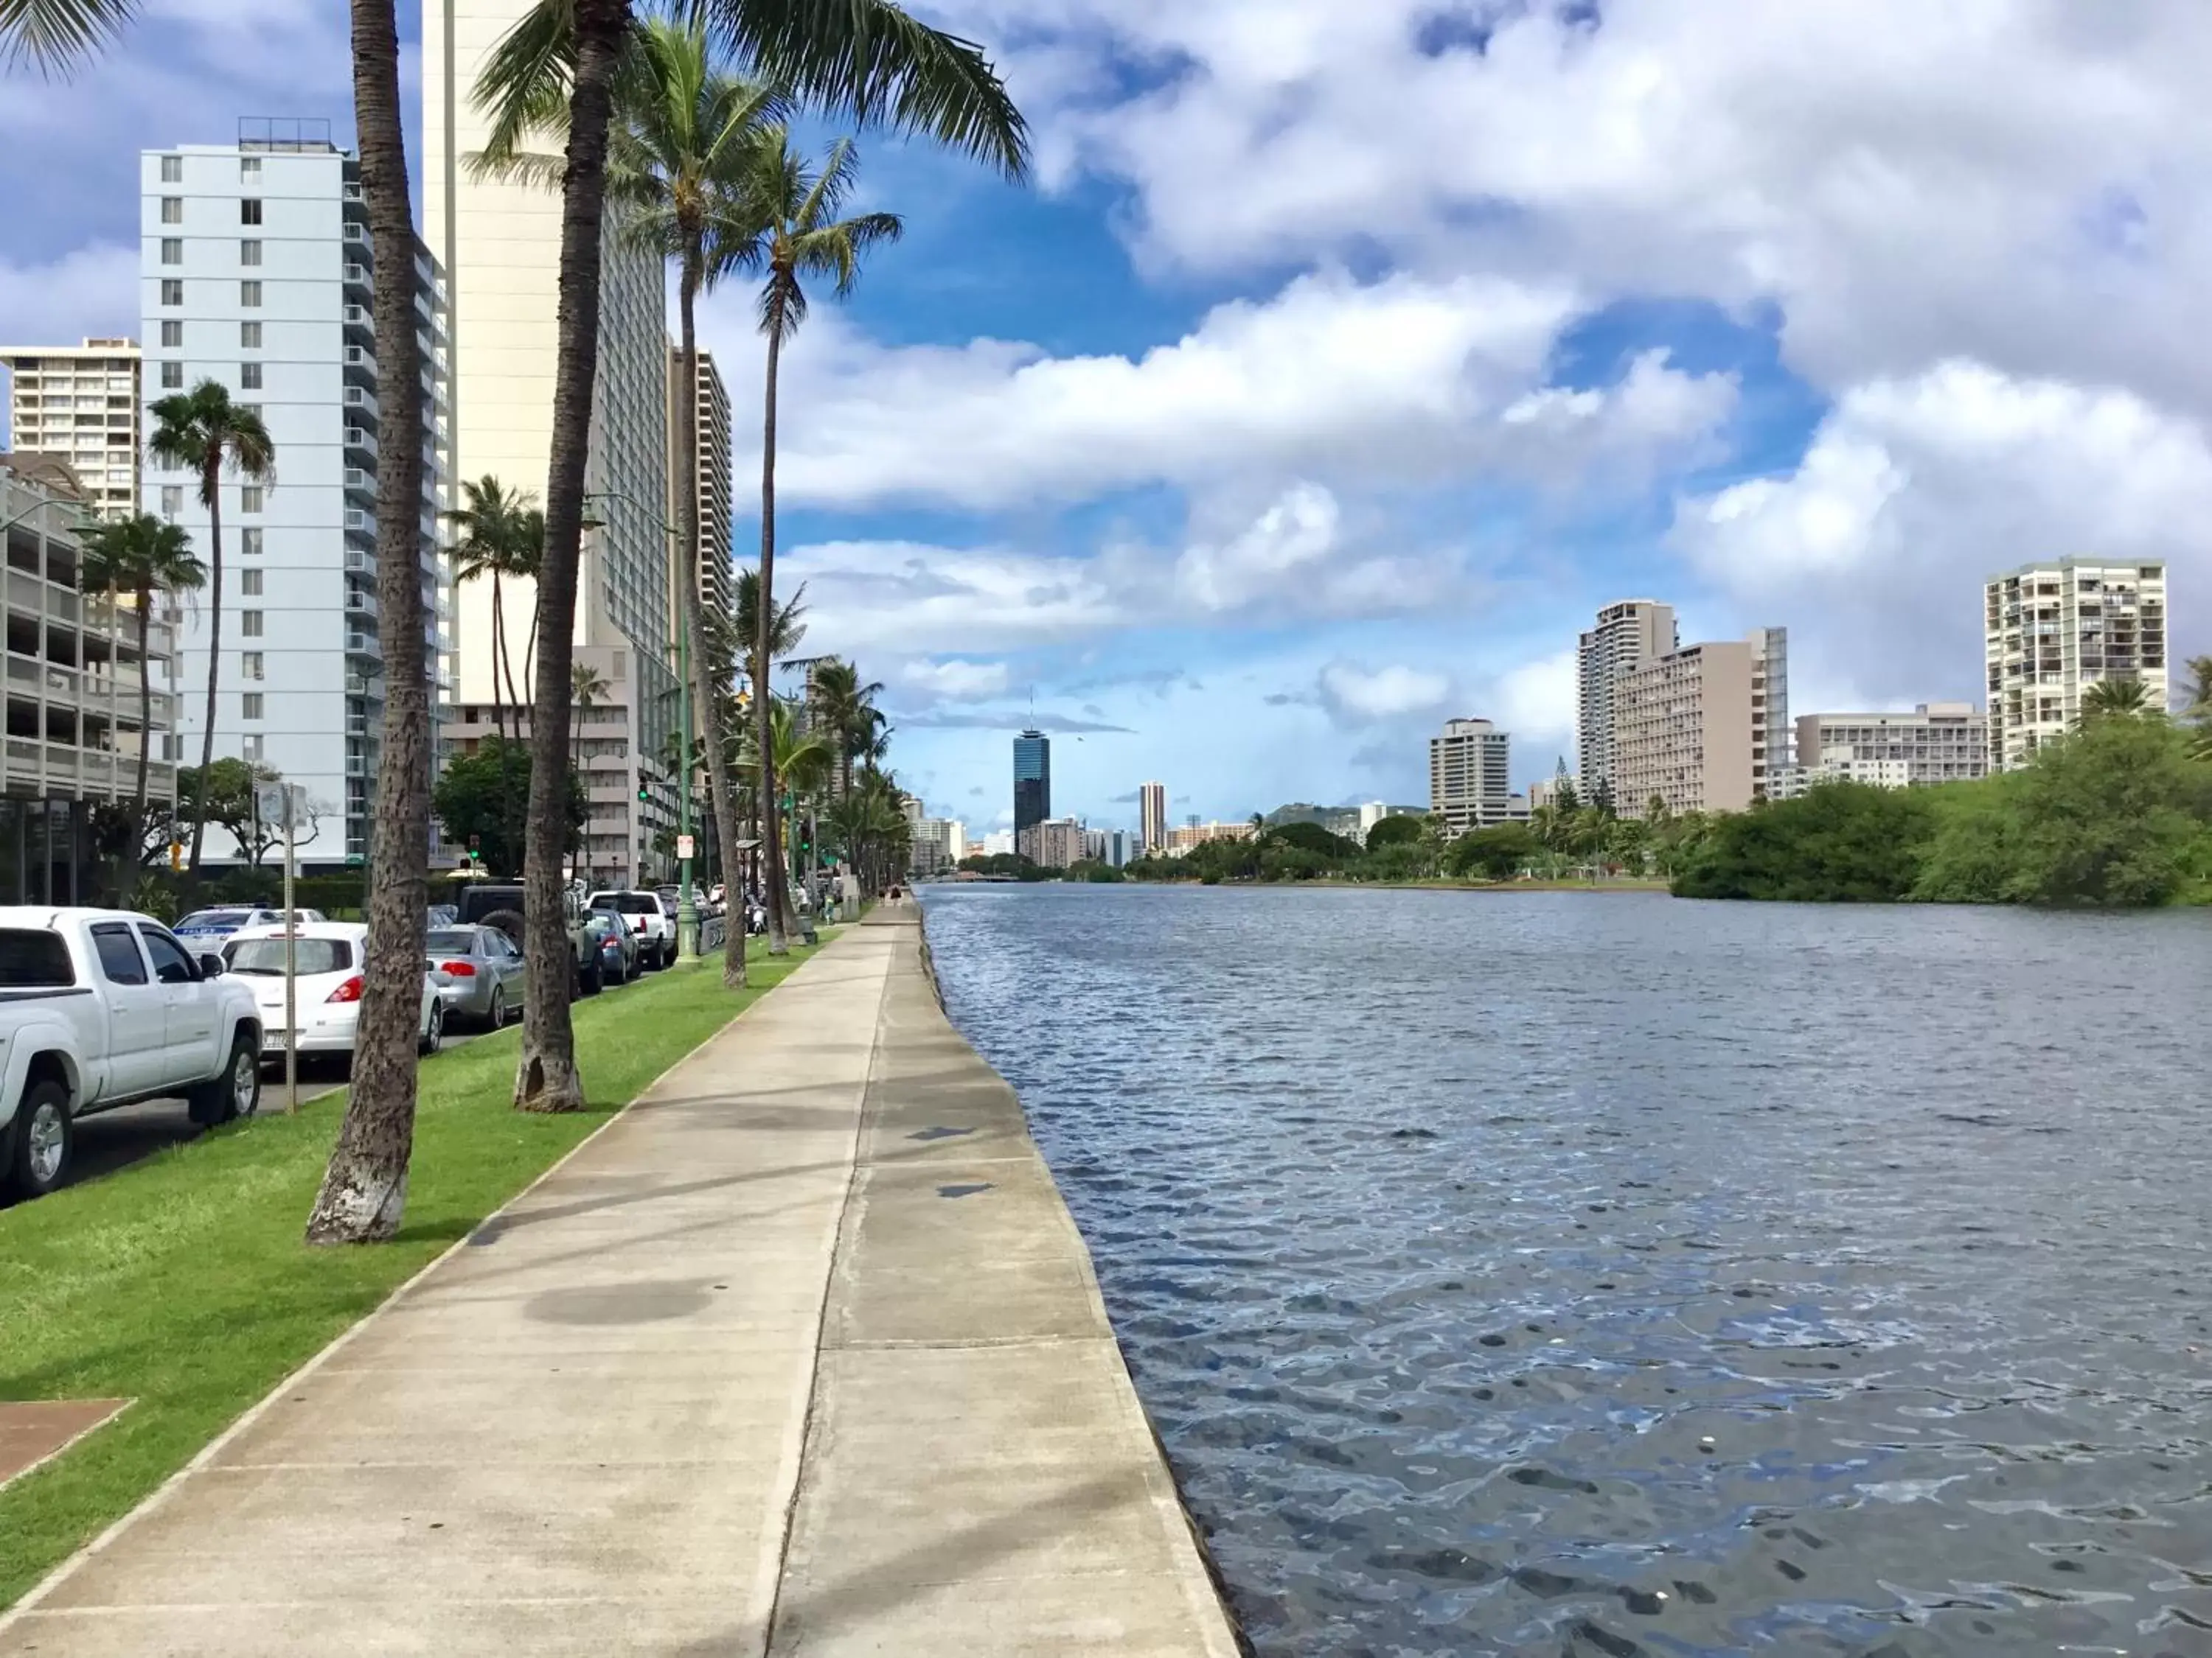
POLYGON ((1982 581, 2028 559, 2154 557, 2203 592, 2208 520, 2201 420, 1951 360, 1845 393, 1794 471, 1681 502, 1672 542, 1739 610, 1816 623, 1792 637, 1814 707, 1980 696, 1982 581))

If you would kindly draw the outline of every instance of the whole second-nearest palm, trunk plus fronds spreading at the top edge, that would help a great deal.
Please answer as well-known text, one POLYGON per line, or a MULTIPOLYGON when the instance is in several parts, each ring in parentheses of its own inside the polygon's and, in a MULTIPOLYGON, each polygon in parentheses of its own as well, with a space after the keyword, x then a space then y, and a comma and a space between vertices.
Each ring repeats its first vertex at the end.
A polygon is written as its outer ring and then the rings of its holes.
MULTIPOLYGON (((46 0, 60 4, 62 0, 46 0)), ((993 161, 1009 177, 1029 166, 1029 137, 978 46, 916 22, 891 0, 681 0, 759 80, 801 104, 929 133, 993 161)), ((635 33, 633 0, 538 0, 500 40, 478 77, 491 115, 487 153, 564 133, 560 334, 546 466, 546 550, 538 584, 544 657, 531 718, 531 844, 524 926, 531 995, 522 1021, 515 1103, 577 1110, 575 1030, 562 995, 562 873, 557 758, 568 738, 568 661, 584 517, 584 462, 599 358, 599 239, 613 84, 635 33)))

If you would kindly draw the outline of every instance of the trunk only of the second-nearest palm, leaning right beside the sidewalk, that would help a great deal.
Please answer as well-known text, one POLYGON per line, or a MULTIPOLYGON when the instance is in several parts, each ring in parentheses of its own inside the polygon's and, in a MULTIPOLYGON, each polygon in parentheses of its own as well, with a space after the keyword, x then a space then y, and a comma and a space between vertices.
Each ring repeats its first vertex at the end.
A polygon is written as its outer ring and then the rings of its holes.
POLYGON ((529 997, 515 1105, 526 1112, 584 1108, 568 1021, 568 913, 562 853, 568 844, 568 696, 575 685, 575 584, 584 542, 584 460, 599 371, 599 230, 606 210, 606 126, 628 0, 575 0, 575 84, 568 93, 568 170, 562 181, 560 312, 553 367, 553 444, 546 466, 546 544, 538 570, 538 685, 531 703, 531 811, 522 869, 522 948, 529 997))

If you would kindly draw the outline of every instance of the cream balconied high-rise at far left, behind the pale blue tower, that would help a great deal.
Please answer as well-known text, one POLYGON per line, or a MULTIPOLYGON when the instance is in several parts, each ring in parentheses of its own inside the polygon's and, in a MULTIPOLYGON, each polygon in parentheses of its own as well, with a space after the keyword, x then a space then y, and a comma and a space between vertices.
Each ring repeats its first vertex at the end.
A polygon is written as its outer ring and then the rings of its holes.
POLYGON ((139 511, 137 340, 84 345, 0 345, 7 365, 9 431, 15 453, 69 462, 91 511, 139 511))

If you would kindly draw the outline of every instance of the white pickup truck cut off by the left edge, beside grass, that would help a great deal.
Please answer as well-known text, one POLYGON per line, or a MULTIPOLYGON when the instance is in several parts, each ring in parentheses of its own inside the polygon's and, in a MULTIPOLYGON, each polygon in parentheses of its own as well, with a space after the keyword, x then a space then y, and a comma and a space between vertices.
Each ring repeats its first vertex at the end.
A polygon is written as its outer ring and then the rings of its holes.
POLYGON ((179 1094, 195 1123, 252 1116, 252 986, 150 915, 0 906, 0 1192, 60 1185, 86 1112, 179 1094))

